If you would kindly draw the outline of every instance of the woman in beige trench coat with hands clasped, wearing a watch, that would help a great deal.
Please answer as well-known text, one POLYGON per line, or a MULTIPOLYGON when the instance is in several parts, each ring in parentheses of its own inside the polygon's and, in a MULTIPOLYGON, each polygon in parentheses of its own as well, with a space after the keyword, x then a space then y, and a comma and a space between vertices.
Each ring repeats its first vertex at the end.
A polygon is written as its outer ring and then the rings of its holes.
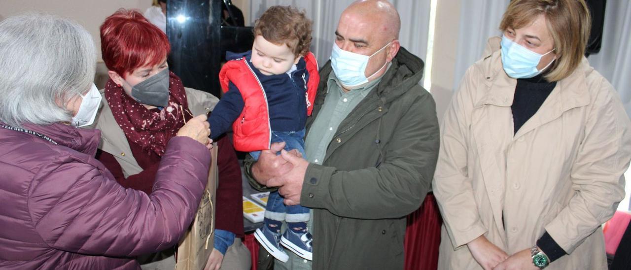
POLYGON ((514 0, 466 72, 433 180, 439 269, 606 269, 631 123, 583 57, 589 23, 584 0, 514 0))

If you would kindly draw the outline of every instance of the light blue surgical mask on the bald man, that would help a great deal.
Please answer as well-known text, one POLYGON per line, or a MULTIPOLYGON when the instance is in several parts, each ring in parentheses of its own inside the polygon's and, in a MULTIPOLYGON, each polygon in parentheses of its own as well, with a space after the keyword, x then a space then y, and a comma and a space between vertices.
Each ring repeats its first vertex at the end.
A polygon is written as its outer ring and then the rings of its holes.
POLYGON ((356 54, 355 52, 348 52, 339 48, 338 44, 333 42, 333 52, 331 52, 331 68, 335 76, 338 78, 339 83, 346 87, 351 88, 368 83, 368 78, 377 74, 383 69, 388 62, 384 63, 380 69, 377 69, 375 73, 366 77, 366 67, 370 57, 379 53, 383 49, 386 49, 392 42, 388 42, 384 47, 377 50, 370 56, 364 56, 363 54, 356 54))

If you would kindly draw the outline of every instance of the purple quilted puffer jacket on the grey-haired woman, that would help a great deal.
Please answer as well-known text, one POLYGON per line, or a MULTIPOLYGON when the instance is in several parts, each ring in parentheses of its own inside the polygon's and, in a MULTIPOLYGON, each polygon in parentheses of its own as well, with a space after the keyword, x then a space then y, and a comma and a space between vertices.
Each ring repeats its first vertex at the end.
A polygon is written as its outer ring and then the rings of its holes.
POLYGON ((167 145, 151 196, 124 189, 95 160, 100 131, 0 127, 0 269, 139 269, 134 257, 177 244, 208 180, 209 151, 167 145))

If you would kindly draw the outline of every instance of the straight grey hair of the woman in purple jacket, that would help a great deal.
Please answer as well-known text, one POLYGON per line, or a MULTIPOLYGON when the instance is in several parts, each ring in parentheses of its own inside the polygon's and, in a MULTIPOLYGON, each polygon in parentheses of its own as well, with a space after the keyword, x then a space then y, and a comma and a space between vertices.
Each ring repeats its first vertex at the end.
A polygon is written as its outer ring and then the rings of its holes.
POLYGON ((0 21, 0 122, 69 122, 71 98, 89 90, 96 51, 75 21, 26 13, 0 21))

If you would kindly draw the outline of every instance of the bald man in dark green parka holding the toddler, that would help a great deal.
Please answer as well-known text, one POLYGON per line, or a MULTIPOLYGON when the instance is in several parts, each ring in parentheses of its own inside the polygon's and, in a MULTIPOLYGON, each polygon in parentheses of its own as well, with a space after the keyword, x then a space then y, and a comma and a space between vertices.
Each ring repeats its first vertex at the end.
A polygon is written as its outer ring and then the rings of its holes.
POLYGON ((399 44, 400 25, 387 1, 346 8, 307 120, 307 156, 272 144, 246 160, 257 189, 278 187, 285 204, 312 208, 312 265, 287 252, 276 269, 403 268, 405 217, 430 187, 439 125, 418 85, 423 61, 399 44))

